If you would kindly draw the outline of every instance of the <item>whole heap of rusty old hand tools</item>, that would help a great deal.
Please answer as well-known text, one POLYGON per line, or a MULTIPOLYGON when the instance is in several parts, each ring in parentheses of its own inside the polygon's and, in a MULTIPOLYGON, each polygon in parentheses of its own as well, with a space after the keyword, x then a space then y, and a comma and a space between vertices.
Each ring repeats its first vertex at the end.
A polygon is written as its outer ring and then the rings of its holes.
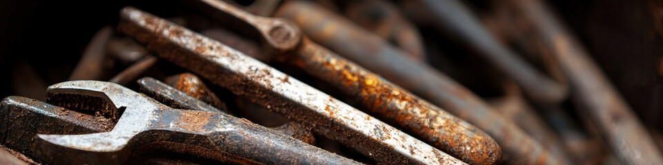
POLYGON ((119 10, 62 83, 17 65, 0 162, 663 162, 539 0, 172 3, 119 10))

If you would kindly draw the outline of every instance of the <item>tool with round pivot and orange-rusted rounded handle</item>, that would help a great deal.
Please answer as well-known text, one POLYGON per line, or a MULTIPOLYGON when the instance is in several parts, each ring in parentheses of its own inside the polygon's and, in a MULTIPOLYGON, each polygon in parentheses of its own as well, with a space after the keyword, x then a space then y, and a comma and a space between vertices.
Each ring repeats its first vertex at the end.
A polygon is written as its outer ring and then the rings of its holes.
MULTIPOLYGON (((417 98, 408 91, 383 81, 376 74, 341 58, 320 45, 308 39, 302 39, 295 25, 282 23, 270 28, 269 25, 255 23, 260 23, 261 20, 276 21, 278 19, 256 17, 240 10, 231 9, 232 6, 217 1, 198 2, 201 3, 198 5, 209 5, 201 7, 211 8, 206 10, 207 12, 221 11, 230 15, 217 17, 218 19, 232 17, 229 19, 236 19, 240 23, 248 23, 265 30, 290 30, 280 32, 283 33, 282 35, 289 36, 285 41, 275 39, 273 36, 260 36, 261 41, 280 41, 280 43, 289 44, 283 46, 264 42, 263 45, 272 50, 271 52, 285 52, 271 54, 271 56, 275 56, 281 62, 294 63, 308 74, 341 89, 345 94, 362 102, 365 105, 362 108, 369 109, 369 113, 381 120, 398 125, 445 153, 450 153, 470 164, 494 164, 499 159, 501 150, 488 134, 443 109, 417 98)), ((253 33, 267 34, 267 32, 253 33)), ((282 81, 287 81, 287 79, 282 81)))

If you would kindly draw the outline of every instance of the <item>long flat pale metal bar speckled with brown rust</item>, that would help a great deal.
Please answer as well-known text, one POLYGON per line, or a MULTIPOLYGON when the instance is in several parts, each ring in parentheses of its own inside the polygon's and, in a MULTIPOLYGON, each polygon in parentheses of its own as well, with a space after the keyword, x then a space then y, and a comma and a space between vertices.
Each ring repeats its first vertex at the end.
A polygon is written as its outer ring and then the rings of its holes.
MULTIPOLYGON (((298 44, 290 40, 298 36, 296 26, 285 25, 289 23, 285 19, 257 20, 226 3, 214 3, 222 4, 218 6, 220 8, 234 11, 231 13, 242 13, 240 17, 245 19, 260 21, 242 22, 259 25, 251 27, 260 29, 259 32, 265 36, 273 36, 265 41, 276 45, 273 52, 287 51, 278 48, 298 44)), ((218 41, 135 8, 124 8, 121 18, 120 30, 133 36, 160 57, 190 69, 215 85, 230 89, 234 94, 249 96, 267 109, 310 126, 316 133, 354 148, 377 162, 465 164, 218 41)))

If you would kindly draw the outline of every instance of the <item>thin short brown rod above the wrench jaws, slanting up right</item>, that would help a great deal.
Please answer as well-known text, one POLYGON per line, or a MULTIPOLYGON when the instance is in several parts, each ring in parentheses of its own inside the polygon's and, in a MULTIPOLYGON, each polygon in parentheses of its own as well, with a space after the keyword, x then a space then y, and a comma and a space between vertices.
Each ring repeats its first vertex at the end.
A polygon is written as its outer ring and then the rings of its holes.
POLYGON ((159 58, 156 56, 146 56, 140 61, 137 61, 133 65, 124 69, 124 71, 119 72, 119 74, 113 76, 108 82, 117 83, 119 85, 129 85, 134 83, 140 76, 142 76, 148 69, 154 67, 157 64, 159 58))

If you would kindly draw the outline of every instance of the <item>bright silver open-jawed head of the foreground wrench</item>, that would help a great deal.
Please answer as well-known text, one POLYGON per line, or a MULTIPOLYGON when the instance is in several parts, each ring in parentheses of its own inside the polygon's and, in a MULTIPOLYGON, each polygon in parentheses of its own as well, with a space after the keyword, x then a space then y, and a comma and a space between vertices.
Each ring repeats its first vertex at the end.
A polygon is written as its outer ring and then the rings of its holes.
POLYGON ((121 150, 128 140, 131 140, 131 137, 149 128, 151 121, 157 119, 156 111, 168 108, 121 85, 95 80, 58 83, 48 87, 47 93, 50 100, 59 100, 58 104, 64 104, 67 107, 74 104, 81 104, 77 107, 99 106, 99 104, 94 104, 95 102, 84 101, 89 99, 105 100, 104 104, 111 105, 106 108, 115 109, 115 111, 124 109, 122 118, 117 121, 111 132, 84 135, 37 135, 39 140, 83 151, 121 150), (82 100, 59 99, 60 97, 81 98, 82 100))

